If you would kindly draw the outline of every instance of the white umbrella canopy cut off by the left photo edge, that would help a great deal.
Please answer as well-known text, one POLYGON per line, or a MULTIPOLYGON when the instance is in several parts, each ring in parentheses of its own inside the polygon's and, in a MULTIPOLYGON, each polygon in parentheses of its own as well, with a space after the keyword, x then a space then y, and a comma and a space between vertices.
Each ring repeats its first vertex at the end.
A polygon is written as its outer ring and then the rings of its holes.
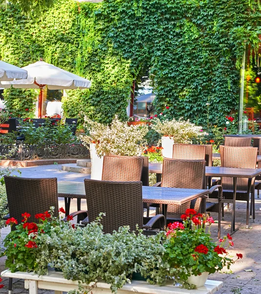
POLYGON ((0 60, 0 81, 27 78, 27 71, 0 60))

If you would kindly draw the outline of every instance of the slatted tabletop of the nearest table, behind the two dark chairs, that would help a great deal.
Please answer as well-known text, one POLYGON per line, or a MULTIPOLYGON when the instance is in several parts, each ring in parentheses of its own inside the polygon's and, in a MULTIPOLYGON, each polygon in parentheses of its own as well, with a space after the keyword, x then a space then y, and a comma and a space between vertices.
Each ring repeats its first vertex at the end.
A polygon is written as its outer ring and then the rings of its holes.
MULTIPOLYGON (((181 205, 197 197, 206 196, 206 189, 179 189, 142 187, 142 199, 146 203, 181 205)), ((83 182, 58 182, 59 197, 86 198, 83 182)))

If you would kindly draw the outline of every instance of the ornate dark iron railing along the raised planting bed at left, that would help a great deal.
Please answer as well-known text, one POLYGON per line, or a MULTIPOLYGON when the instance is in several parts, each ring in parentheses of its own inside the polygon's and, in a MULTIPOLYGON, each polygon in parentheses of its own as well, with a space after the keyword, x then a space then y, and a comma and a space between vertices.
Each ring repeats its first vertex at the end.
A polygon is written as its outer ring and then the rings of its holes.
POLYGON ((81 143, 57 144, 47 141, 39 145, 28 145, 23 141, 0 145, 0 155, 2 159, 9 160, 90 158, 89 150, 81 143))

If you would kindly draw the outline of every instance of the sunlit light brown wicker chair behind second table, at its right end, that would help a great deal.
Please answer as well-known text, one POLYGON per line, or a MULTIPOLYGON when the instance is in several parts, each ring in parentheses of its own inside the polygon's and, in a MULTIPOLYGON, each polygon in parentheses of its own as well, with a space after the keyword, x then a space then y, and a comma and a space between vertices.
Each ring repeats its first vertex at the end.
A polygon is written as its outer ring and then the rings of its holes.
MULTIPOLYGON (((220 146, 221 147, 221 146, 220 146)), ((221 166, 227 168, 255 169, 257 165, 258 148, 255 147, 228 147, 220 148, 221 166)), ((251 193, 251 205, 253 207, 253 219, 255 220, 255 197, 254 183, 252 179, 250 190, 248 190, 248 179, 239 178, 237 180, 237 196, 236 200, 246 201, 246 225, 249 219, 249 196, 251 193)), ((223 187, 223 202, 233 199, 233 178, 222 177, 220 184, 223 187)), ((215 197, 215 194, 213 194, 215 197)))

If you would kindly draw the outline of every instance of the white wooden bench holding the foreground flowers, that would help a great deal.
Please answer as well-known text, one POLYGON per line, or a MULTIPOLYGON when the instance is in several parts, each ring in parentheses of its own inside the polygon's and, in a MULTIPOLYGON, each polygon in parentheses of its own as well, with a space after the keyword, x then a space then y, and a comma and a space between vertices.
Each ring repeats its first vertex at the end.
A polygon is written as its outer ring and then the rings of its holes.
MULTIPOLYGON (((56 272, 53 269, 48 271, 47 275, 37 276, 32 272, 11 272, 4 270, 1 272, 2 277, 9 277, 24 280, 24 288, 29 289, 29 294, 37 294, 38 289, 53 290, 55 294, 63 294, 71 290, 78 290, 78 281, 66 280, 62 272, 56 272)), ((87 289, 91 289, 94 283, 82 284, 87 289)), ((93 294, 103 293, 111 294, 109 284, 98 282, 91 290, 93 294)), ((133 280, 131 284, 124 285, 118 290, 117 294, 213 294, 223 286, 222 282, 207 280, 203 287, 195 290, 181 289, 174 286, 171 281, 167 285, 158 286, 150 285, 145 281, 133 280)))

